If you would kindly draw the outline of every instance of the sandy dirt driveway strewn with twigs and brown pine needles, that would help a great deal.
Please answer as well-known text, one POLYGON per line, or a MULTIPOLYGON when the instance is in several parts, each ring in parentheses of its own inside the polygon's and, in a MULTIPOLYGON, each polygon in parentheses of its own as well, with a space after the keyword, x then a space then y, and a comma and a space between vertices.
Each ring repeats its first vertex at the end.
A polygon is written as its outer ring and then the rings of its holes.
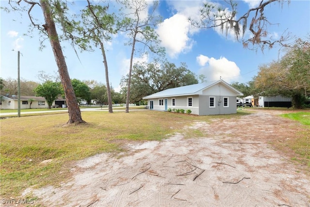
POLYGON ((78 161, 60 187, 27 189, 43 206, 284 206, 310 207, 310 177, 271 140, 301 130, 298 123, 256 111, 238 119, 195 122, 202 138, 182 133, 161 142, 127 144, 122 156, 78 161))

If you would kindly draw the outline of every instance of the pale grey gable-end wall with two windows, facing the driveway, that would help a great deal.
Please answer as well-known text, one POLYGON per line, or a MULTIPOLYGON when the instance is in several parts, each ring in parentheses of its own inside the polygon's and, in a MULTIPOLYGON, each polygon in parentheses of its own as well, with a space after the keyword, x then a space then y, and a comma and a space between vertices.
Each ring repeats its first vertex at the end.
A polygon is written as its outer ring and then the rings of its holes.
POLYGON ((200 100, 199 115, 216 115, 216 114, 237 113, 236 96, 200 95, 199 100, 200 100), (210 97, 215 97, 215 107, 214 108, 209 107, 210 106, 210 97), (228 107, 224 107, 224 97, 228 98, 228 107))

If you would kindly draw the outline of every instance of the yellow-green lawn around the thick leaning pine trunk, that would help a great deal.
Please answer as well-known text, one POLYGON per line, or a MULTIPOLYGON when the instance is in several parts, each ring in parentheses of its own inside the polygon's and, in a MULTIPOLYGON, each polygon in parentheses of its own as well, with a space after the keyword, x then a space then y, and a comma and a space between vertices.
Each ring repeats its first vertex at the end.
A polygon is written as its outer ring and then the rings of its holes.
POLYGON ((76 126, 63 126, 68 120, 66 113, 1 119, 1 197, 19 196, 33 185, 57 185, 70 177, 72 161, 102 152, 120 152, 122 143, 162 140, 196 120, 207 122, 246 114, 83 111, 87 124, 76 126), (51 161, 42 163, 48 159, 51 161))

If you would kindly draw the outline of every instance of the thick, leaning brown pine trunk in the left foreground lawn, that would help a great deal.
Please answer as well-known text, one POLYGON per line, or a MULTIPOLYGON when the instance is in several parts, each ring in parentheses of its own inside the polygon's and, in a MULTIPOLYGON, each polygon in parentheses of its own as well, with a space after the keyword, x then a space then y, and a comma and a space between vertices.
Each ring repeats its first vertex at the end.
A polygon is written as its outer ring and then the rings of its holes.
POLYGON ((65 100, 67 102, 69 112, 69 121, 67 122, 67 124, 86 123, 85 121, 82 120, 81 111, 78 107, 78 101, 74 93, 70 76, 68 73, 68 68, 62 53, 62 47, 59 42, 49 2, 47 0, 40 0, 40 4, 45 18, 45 25, 43 25, 43 27, 47 31, 47 35, 49 37, 49 41, 54 52, 56 64, 58 66, 59 75, 64 89, 65 100))

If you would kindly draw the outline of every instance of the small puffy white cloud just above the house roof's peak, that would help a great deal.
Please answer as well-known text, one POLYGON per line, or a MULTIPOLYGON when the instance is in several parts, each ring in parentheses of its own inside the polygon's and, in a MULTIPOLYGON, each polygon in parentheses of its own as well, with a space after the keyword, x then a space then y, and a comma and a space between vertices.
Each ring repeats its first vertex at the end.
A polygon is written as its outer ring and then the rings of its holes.
POLYGON ((203 65, 199 70, 199 74, 205 75, 208 81, 221 78, 227 82, 232 82, 240 78, 240 69, 237 64, 225 57, 215 59, 200 55, 197 56, 196 60, 200 65, 203 65))

